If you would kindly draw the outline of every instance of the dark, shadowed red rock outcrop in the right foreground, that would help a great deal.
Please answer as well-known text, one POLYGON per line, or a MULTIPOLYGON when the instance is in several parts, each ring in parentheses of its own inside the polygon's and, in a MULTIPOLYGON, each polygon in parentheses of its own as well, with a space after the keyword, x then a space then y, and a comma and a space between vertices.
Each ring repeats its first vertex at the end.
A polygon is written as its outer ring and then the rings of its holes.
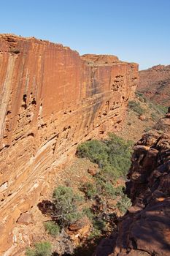
POLYGON ((96 255, 170 255, 170 108, 134 146, 128 178, 132 206, 96 255))

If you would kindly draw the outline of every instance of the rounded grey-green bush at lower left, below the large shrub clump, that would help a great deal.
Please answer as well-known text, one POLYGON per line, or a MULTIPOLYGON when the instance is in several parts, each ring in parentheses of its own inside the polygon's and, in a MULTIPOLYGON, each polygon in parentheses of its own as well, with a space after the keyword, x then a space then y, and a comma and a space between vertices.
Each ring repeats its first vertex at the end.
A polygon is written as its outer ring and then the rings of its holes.
POLYGON ((71 187, 55 188, 53 192, 54 214, 61 227, 66 227, 82 217, 77 208, 81 201, 82 197, 75 194, 71 187))

